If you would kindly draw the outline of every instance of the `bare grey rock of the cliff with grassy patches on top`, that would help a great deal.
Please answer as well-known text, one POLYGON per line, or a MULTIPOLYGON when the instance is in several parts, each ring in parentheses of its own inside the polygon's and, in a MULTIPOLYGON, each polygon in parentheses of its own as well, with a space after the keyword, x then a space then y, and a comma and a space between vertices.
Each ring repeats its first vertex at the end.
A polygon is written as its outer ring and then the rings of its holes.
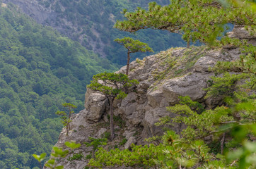
MULTIPOLYGON (((245 34, 243 27, 235 27, 230 36, 240 39, 250 39, 256 44, 256 38, 245 34), (246 36, 245 36, 246 35, 246 36)), ((205 108, 212 108, 221 104, 221 100, 204 99, 204 88, 208 85, 209 77, 214 75, 209 72, 216 61, 234 61, 240 55, 239 49, 209 49, 206 46, 192 46, 190 49, 175 48, 162 51, 159 54, 147 56, 143 60, 133 61, 130 65, 129 78, 139 80, 139 85, 123 100, 115 100, 114 113, 116 118, 116 137, 108 142, 106 148, 119 147, 127 149, 134 144, 146 144, 146 137, 163 133, 154 123, 159 118, 175 114, 166 111, 167 106, 178 103, 178 96, 190 96, 193 101, 199 101, 205 108), (127 142, 121 145, 122 139, 127 142)), ((125 67, 118 73, 124 73, 125 67)), ((103 94, 86 92, 85 109, 72 117, 69 136, 62 130, 59 141, 55 146, 64 147, 64 142, 74 140, 82 146, 72 154, 81 153, 83 156, 90 154, 91 148, 83 142, 88 142, 88 137, 102 137, 109 131, 108 101, 103 94)), ((173 125, 173 130, 180 132, 181 125, 173 125)), ((68 161, 72 156, 59 161, 64 168, 83 168, 88 161, 68 161)))

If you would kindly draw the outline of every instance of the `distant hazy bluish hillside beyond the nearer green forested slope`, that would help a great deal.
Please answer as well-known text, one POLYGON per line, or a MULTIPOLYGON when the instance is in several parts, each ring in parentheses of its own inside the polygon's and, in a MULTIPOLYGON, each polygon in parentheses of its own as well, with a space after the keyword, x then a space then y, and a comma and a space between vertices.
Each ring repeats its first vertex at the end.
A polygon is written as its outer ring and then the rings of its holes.
MULTIPOLYGON (((124 36, 140 39, 153 47, 153 51, 163 51, 173 46, 185 46, 180 35, 170 34, 161 30, 141 30, 136 34, 121 32, 113 28, 117 20, 123 20, 124 8, 136 10, 137 6, 147 8, 147 0, 3 0, 21 6, 23 11, 43 25, 50 25, 71 39, 80 42, 87 49, 95 51, 102 57, 107 57, 112 63, 124 65, 125 50, 113 42, 124 36)), ((169 0, 158 0, 159 4, 169 4, 169 0)), ((142 58, 148 54, 133 54, 142 58)))

